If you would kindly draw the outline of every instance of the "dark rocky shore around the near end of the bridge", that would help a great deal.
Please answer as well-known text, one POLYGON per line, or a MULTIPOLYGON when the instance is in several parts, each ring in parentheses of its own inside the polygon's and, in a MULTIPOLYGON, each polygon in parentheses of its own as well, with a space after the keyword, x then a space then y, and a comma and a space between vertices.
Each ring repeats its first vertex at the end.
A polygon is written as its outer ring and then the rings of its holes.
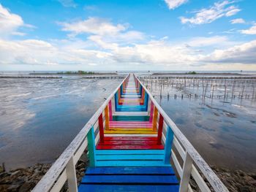
MULTIPOLYGON (((48 169, 50 169, 51 165, 52 164, 34 164, 33 166, 27 166, 26 168, 12 169, 8 172, 1 172, 0 169, 0 191, 31 191, 48 169)), ((80 184, 88 165, 89 160, 86 157, 86 153, 83 153, 75 167, 78 185, 80 184)), ((218 166, 211 166, 211 169, 214 170, 229 191, 256 191, 256 173, 244 172, 241 170, 231 171, 230 169, 218 166)), ((203 177, 203 180, 206 180, 206 178, 203 177)), ((194 191, 200 191, 195 184, 195 180, 190 180, 189 183, 194 191)), ((206 183, 210 186, 207 181, 206 183)), ((64 185, 62 191, 67 191, 67 183, 64 185)))

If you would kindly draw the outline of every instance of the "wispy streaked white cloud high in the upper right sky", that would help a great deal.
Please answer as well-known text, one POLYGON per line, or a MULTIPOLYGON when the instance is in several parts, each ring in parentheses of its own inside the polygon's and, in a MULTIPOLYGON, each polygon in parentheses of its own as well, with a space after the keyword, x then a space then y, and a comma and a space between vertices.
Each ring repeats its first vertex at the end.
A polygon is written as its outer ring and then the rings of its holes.
POLYGON ((200 9, 199 11, 196 11, 195 16, 192 18, 181 17, 181 23, 200 25, 211 23, 214 20, 222 17, 230 17, 232 15, 236 15, 236 13, 241 9, 238 9, 237 7, 230 4, 233 4, 233 1, 219 1, 214 3, 214 6, 211 6, 208 9, 200 9))

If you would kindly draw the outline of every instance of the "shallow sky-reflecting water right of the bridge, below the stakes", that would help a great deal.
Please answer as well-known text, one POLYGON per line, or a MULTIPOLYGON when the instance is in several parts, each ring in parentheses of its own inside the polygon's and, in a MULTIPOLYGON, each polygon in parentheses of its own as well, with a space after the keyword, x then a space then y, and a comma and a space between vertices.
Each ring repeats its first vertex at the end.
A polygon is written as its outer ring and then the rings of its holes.
MULTIPOLYGON (((211 97, 208 85, 203 97, 203 86, 161 81, 143 80, 208 164, 256 172, 256 99, 252 97, 255 81, 245 80, 237 86, 235 98, 224 98, 222 86, 216 85, 215 96, 211 97)), ((227 90, 232 95, 232 87, 226 87, 226 94, 227 90)))

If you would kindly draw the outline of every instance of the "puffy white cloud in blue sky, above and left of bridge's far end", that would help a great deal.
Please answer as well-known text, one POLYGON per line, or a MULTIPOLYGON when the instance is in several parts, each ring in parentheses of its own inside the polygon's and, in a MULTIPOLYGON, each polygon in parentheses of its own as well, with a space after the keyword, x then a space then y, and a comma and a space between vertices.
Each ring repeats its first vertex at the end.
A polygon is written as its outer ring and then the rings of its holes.
POLYGON ((70 32, 69 37, 78 34, 89 34, 89 40, 95 42, 103 49, 114 50, 118 45, 127 45, 145 38, 140 31, 129 31, 129 24, 110 23, 109 20, 102 18, 88 18, 72 23, 59 23, 63 31, 70 32))

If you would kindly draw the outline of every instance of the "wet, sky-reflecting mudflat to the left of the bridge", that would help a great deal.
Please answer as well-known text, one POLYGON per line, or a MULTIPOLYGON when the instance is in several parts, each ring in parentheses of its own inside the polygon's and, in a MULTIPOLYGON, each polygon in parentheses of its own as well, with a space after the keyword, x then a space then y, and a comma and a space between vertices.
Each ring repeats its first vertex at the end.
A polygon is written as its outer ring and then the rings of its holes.
POLYGON ((0 162, 53 161, 121 82, 116 79, 0 79, 0 162))

